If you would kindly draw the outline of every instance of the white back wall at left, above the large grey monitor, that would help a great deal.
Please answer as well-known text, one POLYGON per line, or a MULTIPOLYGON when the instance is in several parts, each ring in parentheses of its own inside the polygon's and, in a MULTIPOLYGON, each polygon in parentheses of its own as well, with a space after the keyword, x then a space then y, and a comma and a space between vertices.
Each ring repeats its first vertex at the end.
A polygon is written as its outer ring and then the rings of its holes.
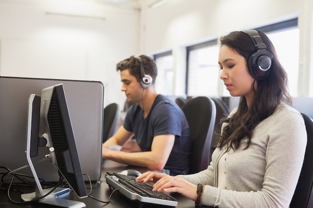
POLYGON ((65 2, 0 0, 0 75, 101 81, 123 105, 115 65, 138 54, 139 11, 65 2))

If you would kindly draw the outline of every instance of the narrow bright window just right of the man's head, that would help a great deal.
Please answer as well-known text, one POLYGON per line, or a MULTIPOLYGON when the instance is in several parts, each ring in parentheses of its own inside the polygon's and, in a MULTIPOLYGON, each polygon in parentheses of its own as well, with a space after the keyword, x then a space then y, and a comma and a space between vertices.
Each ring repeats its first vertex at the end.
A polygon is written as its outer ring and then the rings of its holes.
POLYGON ((173 95, 174 72, 171 51, 153 55, 157 67, 155 80, 156 92, 163 95, 173 95))

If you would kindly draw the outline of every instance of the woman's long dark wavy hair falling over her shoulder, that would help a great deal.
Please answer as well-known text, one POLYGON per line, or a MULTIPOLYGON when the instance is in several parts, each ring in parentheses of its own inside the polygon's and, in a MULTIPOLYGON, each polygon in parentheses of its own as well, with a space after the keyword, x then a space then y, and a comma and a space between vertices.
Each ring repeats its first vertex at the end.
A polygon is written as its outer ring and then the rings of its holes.
MULTIPOLYGON (((222 134, 217 143, 218 148, 226 147, 237 149, 240 141, 247 138, 245 149, 251 143, 252 132, 254 128, 265 118, 270 116, 275 108, 285 103, 291 105, 291 97, 288 93, 288 80, 284 68, 279 63, 275 48, 268 37, 261 31, 258 31, 266 49, 273 55, 272 65, 268 77, 263 80, 255 79, 251 89, 254 91, 254 96, 248 108, 244 96, 240 97, 237 111, 222 122, 222 134), (255 90, 254 84, 257 84, 255 90)), ((225 45, 228 48, 242 55, 247 63, 247 60, 253 52, 255 52, 254 44, 248 34, 242 31, 230 32, 228 35, 222 36, 220 45, 225 45)))

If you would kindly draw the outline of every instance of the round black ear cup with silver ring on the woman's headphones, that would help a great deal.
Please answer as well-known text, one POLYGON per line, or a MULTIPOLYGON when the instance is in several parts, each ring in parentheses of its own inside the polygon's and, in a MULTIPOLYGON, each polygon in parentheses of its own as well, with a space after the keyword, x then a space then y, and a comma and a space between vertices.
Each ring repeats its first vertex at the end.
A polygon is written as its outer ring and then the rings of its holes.
POLYGON ((270 71, 272 54, 267 50, 257 50, 248 59, 248 68, 256 79, 265 79, 270 71))

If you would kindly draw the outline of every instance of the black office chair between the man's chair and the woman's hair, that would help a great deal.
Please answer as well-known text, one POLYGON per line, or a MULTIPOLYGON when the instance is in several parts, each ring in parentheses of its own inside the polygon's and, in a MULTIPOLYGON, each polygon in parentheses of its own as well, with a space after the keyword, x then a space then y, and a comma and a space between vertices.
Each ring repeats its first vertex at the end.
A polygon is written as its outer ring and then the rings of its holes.
MULTIPOLYGON (((216 142, 220 135, 220 129, 221 129, 220 120, 229 115, 229 108, 226 105, 226 103, 222 101, 220 98, 211 98, 211 99, 214 101, 214 104, 216 107, 214 134, 213 134, 212 142, 211 142, 211 154, 212 154, 212 152, 216 148, 216 142)), ((210 159, 211 159, 211 155, 210 155, 210 159)))

